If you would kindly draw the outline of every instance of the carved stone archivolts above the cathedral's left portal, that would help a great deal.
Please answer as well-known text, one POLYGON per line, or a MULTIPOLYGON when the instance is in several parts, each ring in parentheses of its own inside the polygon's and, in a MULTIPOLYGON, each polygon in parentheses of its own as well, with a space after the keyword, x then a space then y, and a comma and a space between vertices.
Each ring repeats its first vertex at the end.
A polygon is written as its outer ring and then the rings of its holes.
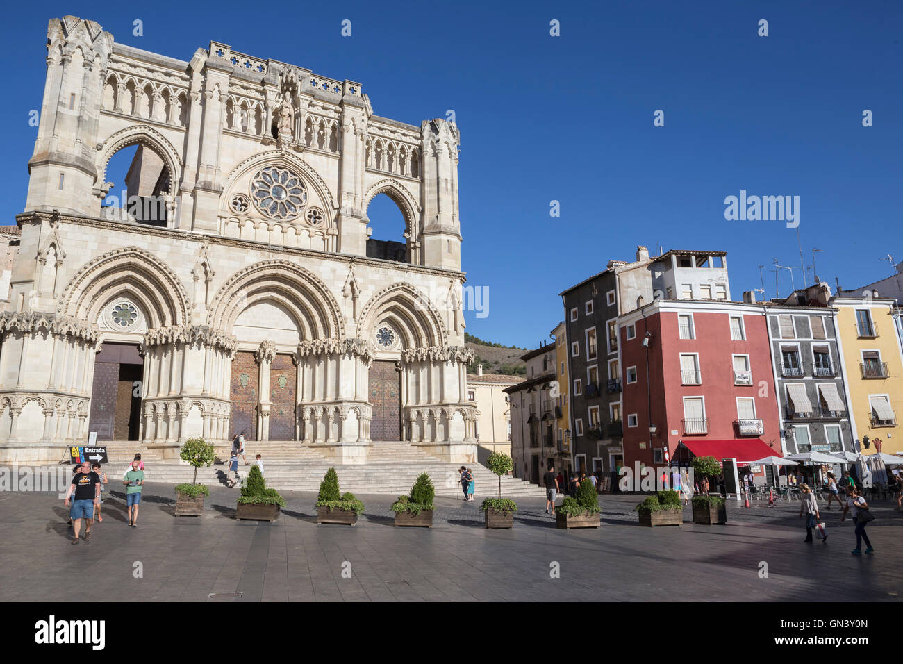
POLYGON ((144 309, 149 328, 189 322, 189 298, 179 277, 162 261, 137 247, 99 256, 70 279, 57 312, 97 323, 112 299, 127 295, 144 309))

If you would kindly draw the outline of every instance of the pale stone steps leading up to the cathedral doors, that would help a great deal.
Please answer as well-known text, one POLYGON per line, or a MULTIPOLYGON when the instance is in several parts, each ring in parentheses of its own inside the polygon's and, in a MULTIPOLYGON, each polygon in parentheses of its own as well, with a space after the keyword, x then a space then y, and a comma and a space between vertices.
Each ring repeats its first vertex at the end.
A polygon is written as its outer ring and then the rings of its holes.
MULTIPOLYGON (((222 452, 218 448, 217 451, 218 463, 198 469, 198 482, 208 485, 224 482, 228 466, 226 463, 219 463, 219 460, 224 462, 228 460, 228 449, 222 452)), ((153 448, 144 448, 137 443, 133 443, 131 447, 107 445, 109 466, 117 468, 121 465, 125 470, 135 452, 142 454, 148 482, 169 484, 191 482, 194 469, 190 465, 178 460, 163 459, 153 448)), ((277 490, 319 491, 323 475, 330 466, 334 466, 339 474, 342 492, 401 495, 411 490, 417 475, 428 472, 437 496, 463 495, 457 471, 461 464, 443 462, 404 442, 371 444, 368 448, 367 463, 353 465, 330 462, 315 449, 298 447, 297 443, 291 441, 251 441, 247 443, 246 453, 248 463, 253 463, 255 455, 261 454, 266 472, 266 485, 277 490)), ((476 496, 482 499, 498 495, 498 475, 479 463, 467 465, 476 481, 476 496)), ((239 457, 239 474, 243 478, 247 477, 249 470, 250 466, 244 465, 239 457)), ((535 484, 506 475, 502 477, 502 496, 542 498, 545 491, 535 484)))

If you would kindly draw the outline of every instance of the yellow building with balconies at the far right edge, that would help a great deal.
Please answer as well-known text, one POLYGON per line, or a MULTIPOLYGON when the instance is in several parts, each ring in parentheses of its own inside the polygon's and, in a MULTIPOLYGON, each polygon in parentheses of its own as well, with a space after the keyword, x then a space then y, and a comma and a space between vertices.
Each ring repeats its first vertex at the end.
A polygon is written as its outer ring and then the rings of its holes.
POLYGON ((885 454, 903 452, 903 352, 895 301, 885 297, 835 295, 837 335, 852 416, 852 435, 862 454, 874 454, 875 439, 885 454), (869 446, 866 447, 866 441, 869 446))

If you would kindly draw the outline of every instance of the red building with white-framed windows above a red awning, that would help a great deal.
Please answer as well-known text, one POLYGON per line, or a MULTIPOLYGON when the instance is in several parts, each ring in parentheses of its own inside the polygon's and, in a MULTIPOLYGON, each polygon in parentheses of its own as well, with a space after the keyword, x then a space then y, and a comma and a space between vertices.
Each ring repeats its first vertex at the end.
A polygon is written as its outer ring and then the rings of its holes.
POLYGON ((681 443, 741 465, 781 454, 762 312, 755 304, 656 299, 619 317, 628 466, 662 465, 666 450, 674 460, 681 443))

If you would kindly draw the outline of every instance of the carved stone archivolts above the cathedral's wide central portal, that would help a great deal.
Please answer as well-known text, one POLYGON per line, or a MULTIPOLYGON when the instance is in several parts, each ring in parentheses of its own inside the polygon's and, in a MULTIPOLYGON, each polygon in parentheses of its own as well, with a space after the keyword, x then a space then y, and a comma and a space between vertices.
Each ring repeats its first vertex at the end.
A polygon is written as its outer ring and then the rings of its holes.
POLYGON ((298 325, 302 339, 338 339, 345 334, 339 303, 311 271, 284 260, 267 260, 240 270, 219 288, 209 324, 232 332, 249 306, 279 304, 298 325))

